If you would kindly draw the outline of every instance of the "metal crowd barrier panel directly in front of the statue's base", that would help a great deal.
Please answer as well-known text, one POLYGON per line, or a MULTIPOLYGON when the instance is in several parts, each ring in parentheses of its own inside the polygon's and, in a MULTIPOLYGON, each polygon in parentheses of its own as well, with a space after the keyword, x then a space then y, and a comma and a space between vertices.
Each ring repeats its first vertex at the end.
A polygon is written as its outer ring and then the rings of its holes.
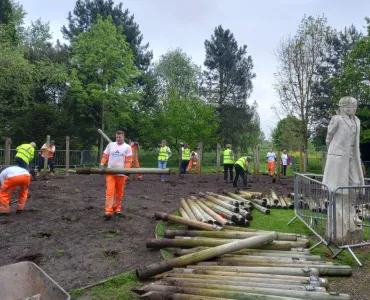
POLYGON ((370 246, 369 194, 370 185, 341 186, 333 192, 333 242, 338 247, 333 257, 347 250, 362 266, 352 249, 370 246))

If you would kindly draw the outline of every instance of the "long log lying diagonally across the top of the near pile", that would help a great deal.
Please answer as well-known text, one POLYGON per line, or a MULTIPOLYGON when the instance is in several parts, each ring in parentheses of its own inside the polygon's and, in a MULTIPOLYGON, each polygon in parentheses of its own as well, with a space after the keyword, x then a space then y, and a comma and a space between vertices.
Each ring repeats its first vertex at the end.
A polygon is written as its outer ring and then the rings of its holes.
POLYGON ((211 249, 206 249, 197 253, 188 254, 160 263, 152 264, 143 269, 136 270, 136 275, 138 279, 142 280, 154 276, 156 274, 169 271, 174 267, 186 266, 191 263, 197 263, 244 248, 260 247, 272 242, 274 239, 276 239, 276 233, 274 232, 260 236, 254 236, 244 240, 217 246, 211 249))

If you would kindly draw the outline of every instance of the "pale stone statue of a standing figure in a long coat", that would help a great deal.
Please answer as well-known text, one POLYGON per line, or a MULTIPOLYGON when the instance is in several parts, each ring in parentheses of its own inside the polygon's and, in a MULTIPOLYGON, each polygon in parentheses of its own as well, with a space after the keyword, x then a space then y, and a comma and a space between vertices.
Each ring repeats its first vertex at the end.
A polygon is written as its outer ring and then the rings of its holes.
MULTIPOLYGON (((328 126, 326 160, 323 183, 332 192, 339 186, 364 185, 360 158, 360 120, 355 116, 357 100, 343 97, 338 114, 328 126)), ((362 223, 356 216, 359 189, 343 189, 336 194, 336 241, 338 244, 362 241, 362 223)))

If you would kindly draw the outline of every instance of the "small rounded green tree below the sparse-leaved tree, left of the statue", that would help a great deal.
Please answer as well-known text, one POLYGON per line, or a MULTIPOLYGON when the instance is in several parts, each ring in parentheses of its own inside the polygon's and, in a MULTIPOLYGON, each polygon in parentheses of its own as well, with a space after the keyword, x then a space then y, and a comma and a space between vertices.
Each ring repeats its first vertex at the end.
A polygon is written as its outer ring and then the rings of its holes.
POLYGON ((271 137, 273 144, 280 150, 299 150, 304 145, 304 140, 300 133, 301 120, 289 115, 281 119, 276 128, 272 131, 271 137))

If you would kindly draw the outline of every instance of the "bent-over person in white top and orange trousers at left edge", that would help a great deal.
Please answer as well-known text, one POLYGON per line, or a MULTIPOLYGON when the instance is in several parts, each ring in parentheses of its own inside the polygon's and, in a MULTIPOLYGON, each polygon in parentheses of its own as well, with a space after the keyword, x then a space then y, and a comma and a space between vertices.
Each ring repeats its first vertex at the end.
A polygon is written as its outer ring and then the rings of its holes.
POLYGON ((0 215, 9 215, 10 199, 13 191, 20 187, 17 202, 17 214, 22 213, 28 197, 28 187, 31 181, 30 173, 21 167, 10 166, 0 169, 0 215))

